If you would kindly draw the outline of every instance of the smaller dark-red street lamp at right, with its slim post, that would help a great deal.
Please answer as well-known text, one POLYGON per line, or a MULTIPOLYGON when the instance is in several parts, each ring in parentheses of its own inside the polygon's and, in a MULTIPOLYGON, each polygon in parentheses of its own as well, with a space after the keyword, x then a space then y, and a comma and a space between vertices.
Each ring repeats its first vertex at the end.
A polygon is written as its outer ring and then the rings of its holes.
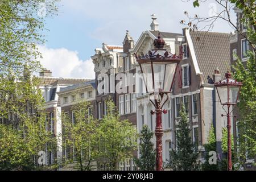
MULTIPOLYGON (((217 89, 217 93, 218 93, 218 97, 220 98, 220 102, 222 108, 224 109, 224 106, 226 105, 228 107, 228 112, 225 110, 226 112, 226 116, 228 118, 228 171, 232 170, 232 153, 231 153, 231 121, 230 121, 230 117, 231 117, 231 113, 232 111, 230 111, 230 106, 232 105, 236 105, 237 104, 237 100, 238 100, 238 95, 242 86, 242 82, 238 82, 236 80, 234 80, 231 77, 231 73, 227 72, 225 73, 225 79, 220 81, 220 82, 216 82, 216 84, 214 84, 214 86, 217 89)), ((224 115, 221 114, 221 116, 223 117, 224 115)))

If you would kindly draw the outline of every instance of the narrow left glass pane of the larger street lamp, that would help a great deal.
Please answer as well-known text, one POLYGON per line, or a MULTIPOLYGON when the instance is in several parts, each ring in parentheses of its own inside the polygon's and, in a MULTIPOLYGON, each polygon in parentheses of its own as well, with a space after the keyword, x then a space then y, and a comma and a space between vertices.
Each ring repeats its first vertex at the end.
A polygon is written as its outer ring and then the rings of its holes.
POLYGON ((144 84, 146 85, 148 92, 154 92, 151 62, 140 64, 142 68, 142 76, 144 84))

